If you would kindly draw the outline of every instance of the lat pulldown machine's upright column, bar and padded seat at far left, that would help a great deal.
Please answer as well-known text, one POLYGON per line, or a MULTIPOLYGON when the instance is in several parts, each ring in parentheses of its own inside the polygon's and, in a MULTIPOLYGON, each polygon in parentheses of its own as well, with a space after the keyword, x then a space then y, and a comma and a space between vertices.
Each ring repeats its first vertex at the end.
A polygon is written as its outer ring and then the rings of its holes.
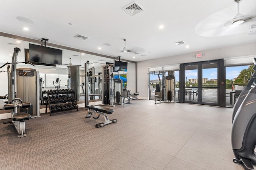
MULTIPOLYGON (((20 98, 17 98, 17 77, 16 77, 16 65, 18 64, 17 58, 18 58, 18 53, 20 49, 19 48, 14 48, 14 53, 12 55, 12 63, 6 63, 2 65, 0 68, 4 67, 7 65, 7 70, 8 70, 8 91, 9 91, 9 104, 4 105, 4 109, 12 109, 12 121, 6 121, 5 123, 13 123, 14 127, 16 128, 18 132, 18 138, 20 137, 25 137, 25 121, 31 118, 31 115, 29 113, 25 112, 17 112, 18 107, 22 108, 28 108, 31 106, 30 102, 24 103, 20 98), (12 65, 12 68, 10 70, 10 65, 12 65)), ((32 64, 30 62, 22 62, 22 63, 28 63, 32 64)), ((32 64, 34 66, 34 64, 32 64)))

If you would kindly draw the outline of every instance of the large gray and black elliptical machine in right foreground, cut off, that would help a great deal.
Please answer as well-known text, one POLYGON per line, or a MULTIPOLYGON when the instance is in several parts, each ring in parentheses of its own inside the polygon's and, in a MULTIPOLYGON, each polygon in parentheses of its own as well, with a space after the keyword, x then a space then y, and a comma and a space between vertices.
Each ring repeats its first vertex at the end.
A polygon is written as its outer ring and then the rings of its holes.
MULTIPOLYGON (((256 59, 254 58, 254 64, 256 59)), ((255 66, 254 66, 255 70, 255 66)), ((242 164, 246 170, 254 170, 252 164, 256 164, 256 86, 255 72, 246 86, 253 86, 248 94, 240 95, 233 111, 233 124, 231 144, 235 155, 233 162, 242 164), (245 97, 244 97, 245 96, 245 97), (244 98, 244 100, 243 100, 244 98), (240 106, 238 106, 240 104, 240 106), (238 109, 237 109, 238 107, 238 109), (235 109, 237 111, 235 112, 235 109)), ((243 92, 246 90, 243 90, 243 92)), ((241 93, 242 94, 242 93, 241 93)))

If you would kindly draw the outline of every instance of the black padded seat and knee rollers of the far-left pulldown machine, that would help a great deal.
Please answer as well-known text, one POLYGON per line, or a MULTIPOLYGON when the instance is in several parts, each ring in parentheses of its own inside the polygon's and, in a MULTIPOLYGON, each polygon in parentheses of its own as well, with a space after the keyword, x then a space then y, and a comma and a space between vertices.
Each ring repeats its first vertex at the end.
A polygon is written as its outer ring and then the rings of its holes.
MULTIPOLYGON (((21 102, 20 99, 14 99, 15 101, 19 100, 21 102)), ((13 102, 13 100, 12 100, 13 102)), ((27 103, 16 103, 14 102, 13 104, 6 104, 4 105, 4 109, 5 110, 9 110, 9 109, 13 109, 15 112, 16 111, 16 107, 22 107, 22 108, 28 108, 31 106, 30 102, 27 103)), ((18 132, 18 138, 20 137, 25 137, 27 136, 25 134, 25 130, 26 130, 26 120, 30 119, 31 115, 25 112, 19 112, 19 113, 12 113, 12 121, 5 121, 4 124, 6 123, 13 123, 14 127, 16 128, 17 132, 18 132)))

